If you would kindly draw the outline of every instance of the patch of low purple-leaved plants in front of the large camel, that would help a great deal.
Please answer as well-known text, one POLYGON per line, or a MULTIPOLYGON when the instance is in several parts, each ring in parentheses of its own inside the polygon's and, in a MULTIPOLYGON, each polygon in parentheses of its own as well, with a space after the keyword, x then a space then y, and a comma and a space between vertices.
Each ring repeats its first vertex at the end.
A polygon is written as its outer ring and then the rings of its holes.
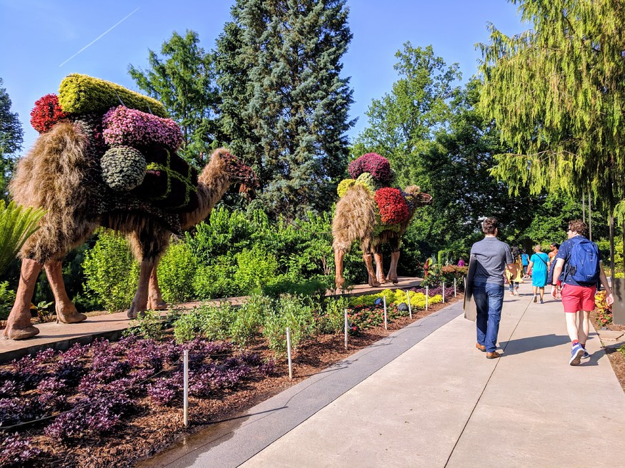
MULTIPOLYGON (((31 426, 42 429, 43 442, 97 442, 149 407, 180 400, 185 349, 189 393, 197 398, 219 396, 240 382, 266 377, 273 369, 273 362, 263 362, 255 353, 235 352, 227 342, 206 340, 176 345, 131 335, 119 342, 74 345, 65 352, 45 350, 1 368, 1 429, 10 434, 22 429, 24 422, 56 414, 31 426)), ((7 435, 1 433, 3 439, 7 435)), ((14 452, 21 464, 36 464, 43 448, 25 434, 15 435, 3 444, 0 465, 5 466, 14 452)))

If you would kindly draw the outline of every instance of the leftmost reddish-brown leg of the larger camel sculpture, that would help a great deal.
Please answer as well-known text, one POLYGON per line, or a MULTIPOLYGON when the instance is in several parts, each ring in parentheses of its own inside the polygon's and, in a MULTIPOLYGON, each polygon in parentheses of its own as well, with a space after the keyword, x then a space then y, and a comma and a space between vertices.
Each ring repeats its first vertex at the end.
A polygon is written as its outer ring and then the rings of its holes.
POLYGON ((39 334, 39 329, 31 325, 30 307, 37 278, 43 267, 41 263, 29 258, 21 260, 21 273, 15 302, 4 329, 4 337, 9 340, 26 340, 39 334))

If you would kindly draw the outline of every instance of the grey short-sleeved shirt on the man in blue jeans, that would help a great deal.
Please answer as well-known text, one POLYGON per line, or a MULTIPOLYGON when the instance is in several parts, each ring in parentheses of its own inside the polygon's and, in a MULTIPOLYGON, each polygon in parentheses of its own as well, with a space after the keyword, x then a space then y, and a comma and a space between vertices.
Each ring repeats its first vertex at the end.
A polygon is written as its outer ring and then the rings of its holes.
POLYGON ((509 245, 497 238, 484 238, 474 243, 471 247, 471 257, 477 262, 474 282, 496 283, 502 286, 506 265, 514 262, 509 245))

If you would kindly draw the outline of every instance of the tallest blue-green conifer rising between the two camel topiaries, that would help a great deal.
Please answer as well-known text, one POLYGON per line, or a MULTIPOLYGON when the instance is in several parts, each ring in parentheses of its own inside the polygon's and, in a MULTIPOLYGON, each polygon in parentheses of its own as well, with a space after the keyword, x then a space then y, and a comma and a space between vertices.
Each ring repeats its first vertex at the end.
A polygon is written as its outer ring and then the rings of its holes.
POLYGON ((326 210, 348 158, 353 102, 345 0, 238 0, 217 41, 221 124, 253 161, 261 200, 292 218, 326 210))

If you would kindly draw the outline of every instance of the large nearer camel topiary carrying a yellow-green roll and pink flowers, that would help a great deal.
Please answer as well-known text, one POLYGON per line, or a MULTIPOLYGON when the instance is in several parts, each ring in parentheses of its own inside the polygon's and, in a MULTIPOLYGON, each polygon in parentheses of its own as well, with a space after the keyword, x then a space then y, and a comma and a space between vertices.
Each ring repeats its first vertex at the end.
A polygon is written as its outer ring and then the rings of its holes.
MULTIPOLYGON (((4 336, 12 340, 23 340, 39 333, 31 325, 29 306, 42 268, 46 270, 56 300, 57 322, 75 323, 86 319, 66 293, 61 260, 69 250, 89 238, 99 225, 124 233, 140 262, 139 285, 129 317, 134 318, 148 308, 160 308, 162 299, 156 265, 169 245, 171 233, 181 233, 204 220, 231 183, 256 183, 251 168, 225 148, 214 151, 198 176, 175 154, 179 142, 167 119, 141 115, 139 120, 145 123, 141 130, 144 137, 135 142, 120 137, 124 128, 116 126, 123 127, 124 120, 111 123, 108 128, 103 120, 105 114, 114 110, 111 96, 119 98, 121 94, 136 107, 144 103, 159 115, 163 115, 164 108, 159 107, 158 101, 155 105, 138 93, 122 92, 124 88, 113 83, 87 79, 90 77, 70 77, 73 80, 70 85, 87 83, 91 90, 100 93, 100 98, 95 100, 99 107, 94 110, 89 101, 70 100, 71 109, 89 111, 72 114, 64 108, 56 108, 59 100, 46 96, 46 103, 51 103, 49 111, 35 109, 31 114, 36 116, 43 133, 18 162, 9 188, 16 203, 46 210, 39 230, 26 240, 20 251, 19 286, 4 330, 4 336), (112 105, 102 105, 104 98, 101 96, 109 98, 107 102, 112 105), (48 122, 51 119, 56 121, 48 122), (153 132, 154 138, 149 136, 150 126, 159 127, 153 132), (106 130, 111 130, 108 142, 106 130), (111 142, 111 138, 118 138, 121 144, 111 142), (156 141, 158 138, 163 139, 156 141), (146 161, 141 161, 137 153, 145 156, 146 161), (110 156, 105 159, 106 174, 102 165, 105 155, 110 156)), ((60 101, 62 104, 68 97, 60 101)), ((128 118, 126 114, 129 113, 124 111, 124 118, 128 118)), ((130 114, 136 123, 138 117, 134 111, 130 114)))

